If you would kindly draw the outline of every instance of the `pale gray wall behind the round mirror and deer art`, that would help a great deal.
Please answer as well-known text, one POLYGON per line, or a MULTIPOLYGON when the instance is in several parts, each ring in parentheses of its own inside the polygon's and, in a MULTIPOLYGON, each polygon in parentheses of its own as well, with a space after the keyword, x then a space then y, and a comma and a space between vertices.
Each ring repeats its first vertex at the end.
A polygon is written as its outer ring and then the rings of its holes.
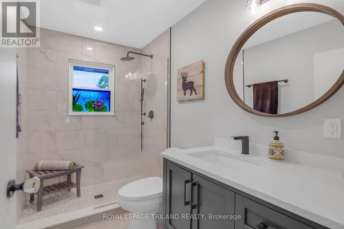
MULTIPOLYGON (((251 142, 268 144, 271 131, 281 131, 288 149, 344 157, 344 141, 323 138, 324 118, 344 118, 344 89, 325 104, 289 118, 263 118, 243 111, 230 99, 224 84, 226 59, 242 32, 262 15, 290 3, 275 0, 262 12, 246 12, 246 1, 208 0, 172 30, 171 141, 182 148, 214 144, 214 138, 250 135, 251 142), (273 5, 275 4, 275 5, 273 5), (176 101, 177 69, 203 59, 206 63, 204 100, 176 101)), ((310 1, 323 3, 344 14, 341 0, 310 1)))

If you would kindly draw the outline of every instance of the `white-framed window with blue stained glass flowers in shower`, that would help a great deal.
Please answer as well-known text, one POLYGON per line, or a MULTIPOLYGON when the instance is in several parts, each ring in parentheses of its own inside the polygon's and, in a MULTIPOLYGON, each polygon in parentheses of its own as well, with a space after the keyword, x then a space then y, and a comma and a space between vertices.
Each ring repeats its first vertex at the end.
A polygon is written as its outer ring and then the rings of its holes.
POLYGON ((114 115, 114 66, 69 61, 69 114, 114 115))

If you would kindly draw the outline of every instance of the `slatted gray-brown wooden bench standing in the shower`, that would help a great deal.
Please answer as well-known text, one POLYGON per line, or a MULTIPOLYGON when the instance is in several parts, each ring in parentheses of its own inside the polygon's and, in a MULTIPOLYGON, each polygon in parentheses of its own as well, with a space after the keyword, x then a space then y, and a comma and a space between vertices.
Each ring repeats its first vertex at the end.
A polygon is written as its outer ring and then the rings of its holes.
MULTIPOLYGON (((80 197, 80 178, 81 178, 81 170, 84 166, 80 164, 76 164, 76 166, 71 170, 63 170, 63 171, 55 171, 55 170, 28 170, 26 171, 30 178, 32 177, 39 177, 41 179, 41 186, 39 187, 39 191, 36 193, 37 195, 37 211, 42 210, 42 200, 43 197, 47 195, 51 195, 54 193, 61 192, 61 190, 71 190, 72 188, 76 188, 76 195, 80 197), (76 173, 76 183, 72 182, 72 173, 76 173), (49 186, 43 186, 43 182, 45 179, 53 179, 57 177, 62 177, 67 175, 67 180, 65 182, 59 182, 56 184, 52 184, 49 186)), ((30 194, 30 204, 34 202, 34 194, 30 194)))

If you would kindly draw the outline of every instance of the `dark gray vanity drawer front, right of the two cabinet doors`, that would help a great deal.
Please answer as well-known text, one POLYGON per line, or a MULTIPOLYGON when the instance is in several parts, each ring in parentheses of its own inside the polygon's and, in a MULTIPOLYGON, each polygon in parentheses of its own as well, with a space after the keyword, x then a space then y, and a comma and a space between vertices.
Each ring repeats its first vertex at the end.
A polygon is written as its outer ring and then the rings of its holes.
POLYGON ((241 195, 235 195, 235 214, 241 215, 235 221, 236 229, 313 229, 241 195))

